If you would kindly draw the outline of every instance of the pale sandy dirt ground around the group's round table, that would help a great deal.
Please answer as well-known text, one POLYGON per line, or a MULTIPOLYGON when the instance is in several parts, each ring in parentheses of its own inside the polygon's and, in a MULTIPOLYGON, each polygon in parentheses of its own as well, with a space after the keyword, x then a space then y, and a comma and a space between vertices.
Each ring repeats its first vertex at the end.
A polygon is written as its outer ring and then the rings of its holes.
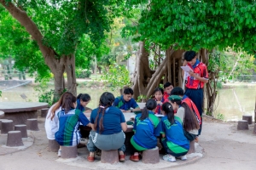
MULTIPOLYGON (((95 169, 79 153, 76 160, 62 160, 56 157, 56 153, 47 150, 48 140, 44 133, 44 119, 38 119, 39 132, 32 132, 34 143, 26 150, 0 156, 0 170, 51 170, 51 169, 95 169), (80 163, 79 163, 80 162, 80 163)), ((256 163, 256 135, 253 134, 253 125, 249 130, 237 131, 236 122, 221 122, 209 117, 204 117, 202 134, 199 144, 203 148, 203 157, 198 161, 177 161, 177 163, 160 161, 161 169, 175 168, 177 170, 191 169, 255 169, 256 163), (166 166, 161 166, 166 164, 166 166), (168 167, 168 165, 170 165, 168 167)), ((82 148, 79 152, 84 152, 82 148)), ((126 158, 127 159, 127 158, 126 158)), ((129 159, 129 158, 128 158, 129 159)), ((128 162, 128 161, 127 161, 128 162)), ((97 169, 158 169, 157 166, 141 167, 141 162, 121 163, 115 168, 108 164, 102 164, 97 169), (138 164, 137 164, 138 163, 138 164)))

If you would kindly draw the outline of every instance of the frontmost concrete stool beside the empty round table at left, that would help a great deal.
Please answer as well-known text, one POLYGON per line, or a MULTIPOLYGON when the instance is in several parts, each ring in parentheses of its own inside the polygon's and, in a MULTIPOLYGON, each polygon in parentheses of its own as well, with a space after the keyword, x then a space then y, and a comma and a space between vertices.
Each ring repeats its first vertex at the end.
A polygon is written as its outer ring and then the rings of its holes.
POLYGON ((23 146, 20 131, 9 131, 7 136, 7 146, 23 146))

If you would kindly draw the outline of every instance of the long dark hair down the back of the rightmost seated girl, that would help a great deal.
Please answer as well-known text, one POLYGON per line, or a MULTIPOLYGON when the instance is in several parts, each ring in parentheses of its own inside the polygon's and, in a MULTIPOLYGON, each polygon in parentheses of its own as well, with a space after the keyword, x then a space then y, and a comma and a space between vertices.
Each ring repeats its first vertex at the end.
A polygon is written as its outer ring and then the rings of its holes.
POLYGON ((199 129, 199 124, 195 118, 195 114, 190 109, 189 105, 183 102, 181 106, 184 108, 185 111, 184 120, 182 120, 184 129, 187 132, 189 132, 190 130, 199 129))

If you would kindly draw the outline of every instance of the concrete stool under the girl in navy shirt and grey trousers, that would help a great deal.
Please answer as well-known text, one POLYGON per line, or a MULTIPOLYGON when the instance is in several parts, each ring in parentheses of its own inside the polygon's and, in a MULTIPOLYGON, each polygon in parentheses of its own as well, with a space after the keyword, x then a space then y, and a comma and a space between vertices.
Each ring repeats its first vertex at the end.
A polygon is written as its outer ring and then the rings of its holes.
POLYGON ((117 163, 119 162, 119 150, 102 150, 102 163, 117 163))

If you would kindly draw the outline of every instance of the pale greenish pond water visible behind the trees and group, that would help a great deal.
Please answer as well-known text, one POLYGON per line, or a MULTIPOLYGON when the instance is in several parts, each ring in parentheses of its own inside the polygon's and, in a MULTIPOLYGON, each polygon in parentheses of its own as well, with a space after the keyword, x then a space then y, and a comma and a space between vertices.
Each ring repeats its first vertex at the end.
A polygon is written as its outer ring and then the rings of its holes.
MULTIPOLYGON (((54 88, 54 87, 50 87, 54 88)), ((90 108, 96 108, 99 104, 100 96, 103 92, 111 92, 118 96, 119 92, 103 88, 78 87, 78 94, 90 94, 91 101, 87 105, 90 108)), ((219 95, 215 103, 214 116, 222 114, 224 121, 241 120, 242 115, 254 116, 254 105, 256 96, 256 84, 229 86, 219 90, 219 95)), ((0 101, 38 101, 38 92, 29 84, 18 88, 12 88, 3 91, 0 101), (26 100, 20 97, 20 94, 26 95, 26 100)))

